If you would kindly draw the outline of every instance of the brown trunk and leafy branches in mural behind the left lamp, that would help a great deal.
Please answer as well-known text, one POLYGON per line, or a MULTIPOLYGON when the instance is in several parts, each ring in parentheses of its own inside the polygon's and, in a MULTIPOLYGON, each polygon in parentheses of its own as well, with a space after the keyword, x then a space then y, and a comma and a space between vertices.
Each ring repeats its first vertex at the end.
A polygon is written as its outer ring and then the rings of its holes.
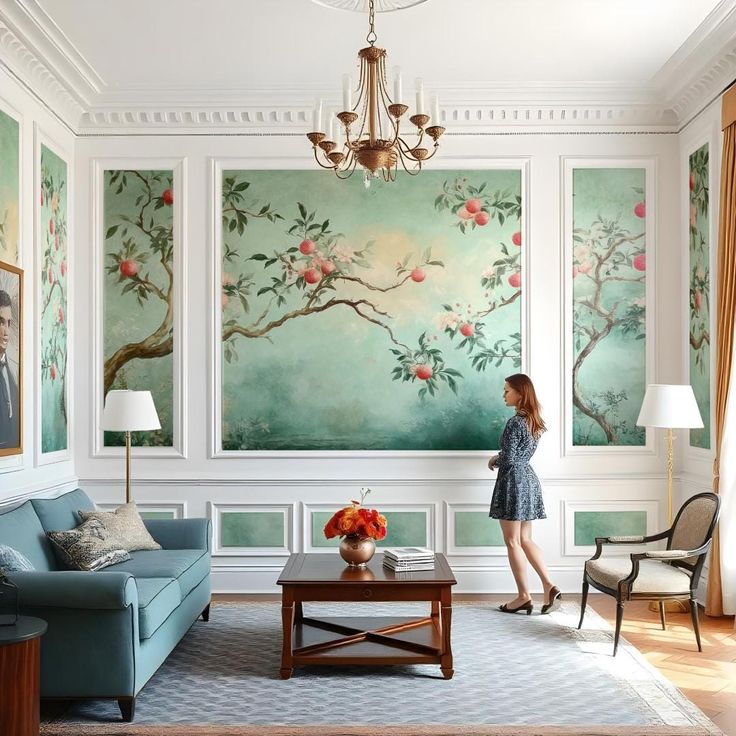
POLYGON ((139 171, 121 170, 112 172, 109 186, 117 184, 116 193, 120 194, 128 187, 128 177, 140 181, 143 193, 135 200, 137 215, 118 215, 120 223, 110 226, 105 233, 105 239, 108 239, 120 230, 122 238, 121 249, 107 254, 109 265, 106 270, 108 274, 117 274, 117 283, 122 285, 121 294, 134 294, 141 306, 150 297, 159 299, 166 305, 166 313, 150 335, 138 342, 122 345, 107 358, 104 371, 105 394, 112 387, 120 370, 131 360, 169 355, 174 346, 173 225, 156 224, 151 216, 154 210, 173 205, 172 181, 168 177, 164 181, 164 177, 157 174, 145 176, 139 171), (144 236, 143 247, 139 245, 140 235, 144 236), (157 258, 163 266, 166 274, 163 284, 154 283, 150 273, 145 271, 144 267, 151 257, 157 258))

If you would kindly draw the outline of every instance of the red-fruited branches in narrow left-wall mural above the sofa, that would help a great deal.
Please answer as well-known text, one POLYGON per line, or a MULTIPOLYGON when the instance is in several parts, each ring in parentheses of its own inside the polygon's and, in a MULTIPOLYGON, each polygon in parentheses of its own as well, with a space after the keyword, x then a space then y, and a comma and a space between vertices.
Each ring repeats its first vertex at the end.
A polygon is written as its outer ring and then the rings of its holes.
POLYGON ((41 172, 41 207, 48 203, 51 217, 48 223, 42 222, 41 227, 46 233, 46 247, 43 253, 43 271, 41 272, 41 321, 48 314, 52 314, 52 328, 48 341, 44 341, 41 354, 41 376, 51 379, 52 383, 59 381, 61 393, 59 395, 59 409, 64 421, 66 416, 66 315, 64 305, 67 303, 67 263, 62 243, 67 240, 66 213, 59 208, 59 199, 64 188, 64 182, 55 182, 48 169, 41 172))

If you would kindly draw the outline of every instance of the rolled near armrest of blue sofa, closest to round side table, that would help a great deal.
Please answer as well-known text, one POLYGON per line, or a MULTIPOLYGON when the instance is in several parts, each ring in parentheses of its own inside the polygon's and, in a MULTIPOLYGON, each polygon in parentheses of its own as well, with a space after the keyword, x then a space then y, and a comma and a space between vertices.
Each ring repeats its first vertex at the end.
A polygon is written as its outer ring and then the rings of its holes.
POLYGON ((120 610, 138 606, 135 578, 127 572, 15 572, 21 608, 77 608, 120 610))

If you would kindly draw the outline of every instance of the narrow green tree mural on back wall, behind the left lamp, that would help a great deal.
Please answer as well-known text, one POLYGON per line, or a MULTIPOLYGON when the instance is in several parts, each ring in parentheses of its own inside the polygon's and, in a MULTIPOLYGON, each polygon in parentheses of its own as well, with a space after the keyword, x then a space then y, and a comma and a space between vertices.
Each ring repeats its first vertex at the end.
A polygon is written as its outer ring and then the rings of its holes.
POLYGON ((104 172, 104 392, 153 394, 161 429, 134 432, 138 446, 173 446, 173 207, 173 171, 104 172))

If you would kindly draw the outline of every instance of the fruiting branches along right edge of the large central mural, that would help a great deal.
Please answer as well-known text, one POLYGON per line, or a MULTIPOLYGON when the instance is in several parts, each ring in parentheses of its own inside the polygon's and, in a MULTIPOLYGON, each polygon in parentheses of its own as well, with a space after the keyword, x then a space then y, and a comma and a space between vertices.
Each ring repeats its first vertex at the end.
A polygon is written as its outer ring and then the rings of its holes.
MULTIPOLYGON (((453 182, 445 181, 442 193, 435 199, 435 209, 456 215, 458 219, 453 227, 460 228, 462 233, 485 227, 494 219, 500 225, 509 219, 521 222, 519 195, 501 190, 486 192, 485 188, 485 184, 473 186, 465 177, 453 182)), ((481 274, 480 283, 488 300, 486 304, 475 309, 468 305, 464 310, 459 302, 454 307, 442 305, 445 311, 438 318, 440 328, 451 340, 460 338, 457 348, 467 350, 477 371, 484 371, 491 364, 500 366, 504 360, 510 360, 515 368, 521 366, 520 333, 496 339, 492 344, 488 342, 491 338, 484 334, 487 329, 484 320, 521 296, 521 239, 521 230, 517 230, 511 236, 511 250, 506 243, 500 243, 502 257, 493 261, 481 274), (503 290, 507 287, 513 291, 504 295, 503 290)))

